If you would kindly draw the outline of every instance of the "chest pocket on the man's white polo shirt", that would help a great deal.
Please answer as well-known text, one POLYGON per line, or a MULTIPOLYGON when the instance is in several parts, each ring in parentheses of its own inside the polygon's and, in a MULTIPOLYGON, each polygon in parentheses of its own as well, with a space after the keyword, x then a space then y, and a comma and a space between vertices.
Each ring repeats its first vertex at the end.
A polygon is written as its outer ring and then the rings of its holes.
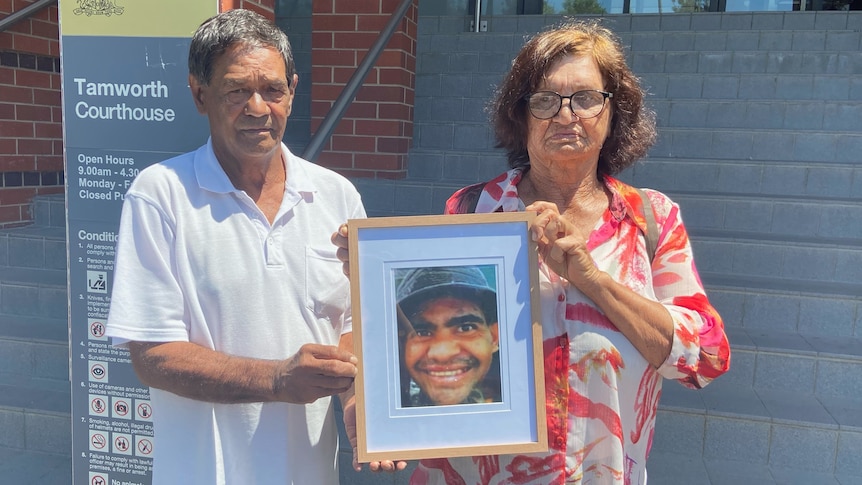
POLYGON ((340 324, 350 307, 350 282, 332 250, 305 248, 305 305, 319 318, 340 324))

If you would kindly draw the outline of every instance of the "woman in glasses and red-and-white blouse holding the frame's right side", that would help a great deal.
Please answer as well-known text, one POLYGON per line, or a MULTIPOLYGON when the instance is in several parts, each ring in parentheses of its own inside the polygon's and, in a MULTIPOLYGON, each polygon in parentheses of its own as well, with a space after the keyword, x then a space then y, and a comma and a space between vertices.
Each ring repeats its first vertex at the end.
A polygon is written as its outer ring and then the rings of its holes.
POLYGON ((423 460, 411 484, 644 484, 663 378, 701 388, 730 347, 679 207, 613 176, 655 141, 617 37, 570 21, 529 40, 491 103, 510 170, 447 213, 535 211, 549 451, 423 460))

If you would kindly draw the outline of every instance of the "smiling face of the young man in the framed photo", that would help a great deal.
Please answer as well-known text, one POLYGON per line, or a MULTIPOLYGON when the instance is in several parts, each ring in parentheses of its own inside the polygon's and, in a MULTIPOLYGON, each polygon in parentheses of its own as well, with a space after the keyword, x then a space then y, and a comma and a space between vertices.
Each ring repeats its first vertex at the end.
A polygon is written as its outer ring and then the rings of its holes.
POLYGON ((471 301, 443 297, 422 305, 411 323, 404 342, 410 377, 434 404, 464 402, 499 349, 497 322, 486 322, 471 301))

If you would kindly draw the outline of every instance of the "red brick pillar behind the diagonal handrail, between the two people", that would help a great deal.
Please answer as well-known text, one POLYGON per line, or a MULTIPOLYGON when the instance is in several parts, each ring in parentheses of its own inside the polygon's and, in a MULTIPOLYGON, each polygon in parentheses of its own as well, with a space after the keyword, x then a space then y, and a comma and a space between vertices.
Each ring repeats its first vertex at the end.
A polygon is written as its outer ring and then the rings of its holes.
MULTIPOLYGON (((311 129, 316 130, 400 0, 314 0, 311 129)), ((416 0, 369 71, 317 162, 349 177, 407 174, 413 138, 416 0)))

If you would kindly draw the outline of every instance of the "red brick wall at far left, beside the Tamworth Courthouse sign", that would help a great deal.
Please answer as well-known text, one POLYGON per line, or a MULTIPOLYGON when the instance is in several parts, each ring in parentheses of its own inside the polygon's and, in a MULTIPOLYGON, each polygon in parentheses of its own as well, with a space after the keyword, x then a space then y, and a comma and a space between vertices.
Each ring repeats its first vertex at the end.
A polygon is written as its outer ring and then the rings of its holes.
MULTIPOLYGON (((33 3, 0 0, 0 18, 33 3)), ((0 32, 0 227, 31 220, 34 195, 62 193, 57 6, 0 32)))

